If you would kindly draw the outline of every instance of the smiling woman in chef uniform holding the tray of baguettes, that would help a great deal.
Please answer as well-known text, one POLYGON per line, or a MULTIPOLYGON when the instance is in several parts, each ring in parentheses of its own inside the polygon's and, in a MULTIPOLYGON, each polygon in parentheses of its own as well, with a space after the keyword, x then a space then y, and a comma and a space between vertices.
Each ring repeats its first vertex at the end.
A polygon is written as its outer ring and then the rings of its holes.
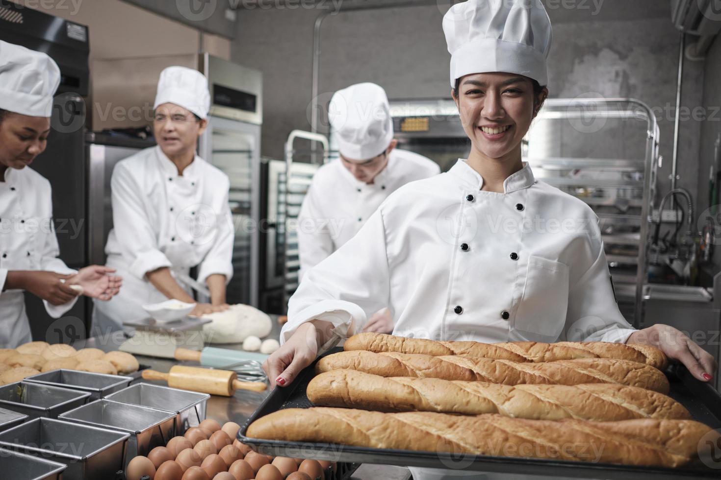
POLYGON ((269 378, 288 385, 389 305, 394 335, 646 343, 711 380, 715 361, 686 335, 666 325, 637 331, 624 320, 593 210, 537 181, 521 161, 521 139, 548 94, 552 34, 541 2, 469 0, 451 7, 443 30, 469 158, 395 191, 306 273, 288 305, 283 345, 264 363, 269 378))

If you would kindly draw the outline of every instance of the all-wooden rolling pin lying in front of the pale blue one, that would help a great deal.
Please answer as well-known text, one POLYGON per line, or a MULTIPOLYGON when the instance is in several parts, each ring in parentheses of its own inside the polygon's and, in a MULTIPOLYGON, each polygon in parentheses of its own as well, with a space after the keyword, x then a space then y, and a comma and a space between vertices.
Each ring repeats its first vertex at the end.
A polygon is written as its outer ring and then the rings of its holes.
POLYGON ((163 380, 174 389, 200 391, 203 394, 231 397, 236 390, 264 391, 262 381, 241 381, 234 371, 176 365, 168 373, 143 370, 143 379, 163 380))

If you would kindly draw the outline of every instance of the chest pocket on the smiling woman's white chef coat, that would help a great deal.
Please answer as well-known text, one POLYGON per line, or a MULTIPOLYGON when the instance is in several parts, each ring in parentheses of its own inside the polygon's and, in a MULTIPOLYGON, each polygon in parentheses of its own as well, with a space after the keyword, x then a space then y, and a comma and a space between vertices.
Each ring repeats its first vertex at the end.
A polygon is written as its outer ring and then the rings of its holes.
POLYGON ((513 324, 515 330, 526 340, 553 342, 563 330, 567 307, 568 267, 531 255, 513 324))

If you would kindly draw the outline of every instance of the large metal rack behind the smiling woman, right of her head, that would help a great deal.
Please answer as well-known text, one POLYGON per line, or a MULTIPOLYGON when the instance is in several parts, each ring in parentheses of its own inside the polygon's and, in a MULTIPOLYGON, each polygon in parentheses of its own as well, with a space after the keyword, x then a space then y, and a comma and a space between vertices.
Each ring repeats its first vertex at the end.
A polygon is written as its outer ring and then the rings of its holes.
POLYGON ((642 101, 547 99, 523 146, 536 178, 585 201, 598 215, 619 308, 636 327, 658 142, 655 116, 642 101))

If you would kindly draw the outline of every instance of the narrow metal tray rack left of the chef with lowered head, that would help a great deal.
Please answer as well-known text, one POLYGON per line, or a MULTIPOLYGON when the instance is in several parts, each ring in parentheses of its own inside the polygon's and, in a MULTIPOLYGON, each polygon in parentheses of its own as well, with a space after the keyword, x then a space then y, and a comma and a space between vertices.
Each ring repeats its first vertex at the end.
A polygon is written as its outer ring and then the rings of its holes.
MULTIPOLYGON (((311 186, 313 175, 322 163, 326 163, 329 155, 328 139, 318 133, 293 130, 286 140, 286 173, 284 176, 285 185, 281 182, 278 195, 278 225, 283 218, 285 230, 285 297, 283 304, 288 305, 288 299, 298 288, 298 271, 301 268, 300 255, 298 252, 298 233, 296 226, 298 214, 301 212, 301 204, 311 186), (319 143, 322 150, 296 150, 293 144, 296 140, 307 140, 311 145, 319 143), (296 161, 298 157, 307 157, 309 160, 322 158, 322 163, 304 163, 296 161)), ((283 177, 281 177, 283 178, 283 177)))

